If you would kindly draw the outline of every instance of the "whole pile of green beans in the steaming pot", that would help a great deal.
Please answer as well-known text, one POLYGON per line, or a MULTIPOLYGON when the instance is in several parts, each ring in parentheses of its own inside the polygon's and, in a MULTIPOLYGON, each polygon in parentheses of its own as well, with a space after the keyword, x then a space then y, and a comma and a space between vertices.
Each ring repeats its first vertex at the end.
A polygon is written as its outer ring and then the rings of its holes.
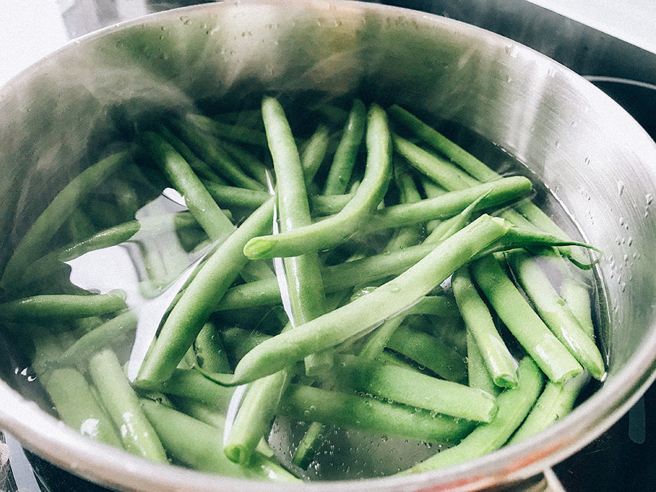
POLYGON ((300 482, 338 429, 441 448, 371 475, 418 473, 541 432, 605 377, 594 248, 405 108, 264 95, 135 128, 0 276, 17 373, 91 439, 300 482), (103 252, 135 289, 74 283, 103 252))

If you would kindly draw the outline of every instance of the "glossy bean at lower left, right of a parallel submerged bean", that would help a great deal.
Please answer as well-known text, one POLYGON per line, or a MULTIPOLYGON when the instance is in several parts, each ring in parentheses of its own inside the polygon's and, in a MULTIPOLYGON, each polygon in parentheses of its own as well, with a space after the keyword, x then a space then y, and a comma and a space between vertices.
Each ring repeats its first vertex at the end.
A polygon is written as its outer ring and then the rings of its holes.
POLYGON ((126 450, 152 461, 167 463, 167 455, 139 405, 139 397, 112 350, 101 350, 89 359, 89 374, 103 406, 121 431, 126 450))

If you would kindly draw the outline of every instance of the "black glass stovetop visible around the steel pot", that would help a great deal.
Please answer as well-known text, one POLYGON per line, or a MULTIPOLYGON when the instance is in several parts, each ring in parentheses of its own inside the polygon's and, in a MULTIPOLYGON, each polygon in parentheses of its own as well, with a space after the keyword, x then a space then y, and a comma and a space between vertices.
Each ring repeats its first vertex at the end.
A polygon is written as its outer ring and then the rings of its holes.
MULTIPOLYGON (((70 38, 126 16, 198 1, 58 0, 70 38), (95 5, 93 9, 91 4, 95 5), (92 8, 92 10, 89 10, 92 8), (86 9, 86 10, 85 10, 86 9), (92 14, 92 15, 91 15, 92 14)), ((546 54, 607 92, 656 140, 656 53, 525 0, 378 1, 444 15, 494 31, 546 54)), ((557 2, 556 2, 557 3, 557 2)), ((656 490, 656 385, 607 432, 553 468, 565 491, 656 490)), ((0 431, 0 492, 105 491, 62 471, 0 431), (3 466, 7 452, 10 466, 3 466)))

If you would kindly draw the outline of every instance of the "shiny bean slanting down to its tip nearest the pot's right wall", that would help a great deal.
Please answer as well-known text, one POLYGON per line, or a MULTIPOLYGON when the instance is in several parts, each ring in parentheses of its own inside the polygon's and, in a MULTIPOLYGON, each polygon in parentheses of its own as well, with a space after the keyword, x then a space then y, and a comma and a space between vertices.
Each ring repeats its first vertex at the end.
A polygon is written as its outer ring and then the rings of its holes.
POLYGON ((535 257, 530 257, 523 250, 510 251, 506 257, 521 287, 548 328, 593 378, 603 378, 606 368, 594 339, 589 337, 558 295, 535 257))

